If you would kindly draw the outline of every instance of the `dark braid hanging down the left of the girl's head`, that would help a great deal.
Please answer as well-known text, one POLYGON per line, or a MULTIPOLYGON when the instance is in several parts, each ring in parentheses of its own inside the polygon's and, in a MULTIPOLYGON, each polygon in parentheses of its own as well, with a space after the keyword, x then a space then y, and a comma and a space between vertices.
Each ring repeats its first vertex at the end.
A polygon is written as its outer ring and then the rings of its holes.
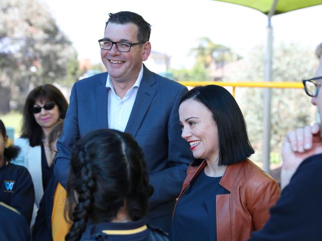
POLYGON ((93 204, 93 192, 95 190, 95 180, 92 175, 89 155, 86 150, 81 149, 79 152, 79 167, 80 175, 79 179, 75 179, 75 191, 78 194, 78 202, 74 208, 72 215, 73 224, 66 235, 66 241, 77 241, 80 240, 82 233, 86 229, 86 224, 88 221, 88 212, 90 211, 93 204))

